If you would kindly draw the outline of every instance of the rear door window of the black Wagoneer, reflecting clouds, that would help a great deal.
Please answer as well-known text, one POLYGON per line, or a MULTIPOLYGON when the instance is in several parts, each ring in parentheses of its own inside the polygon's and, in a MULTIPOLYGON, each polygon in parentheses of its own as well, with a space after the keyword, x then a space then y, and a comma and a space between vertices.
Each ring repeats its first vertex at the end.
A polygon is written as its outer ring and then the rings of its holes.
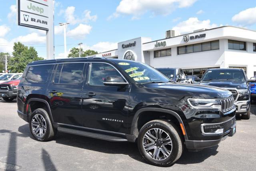
POLYGON ((54 84, 80 84, 84 63, 58 64, 54 84))

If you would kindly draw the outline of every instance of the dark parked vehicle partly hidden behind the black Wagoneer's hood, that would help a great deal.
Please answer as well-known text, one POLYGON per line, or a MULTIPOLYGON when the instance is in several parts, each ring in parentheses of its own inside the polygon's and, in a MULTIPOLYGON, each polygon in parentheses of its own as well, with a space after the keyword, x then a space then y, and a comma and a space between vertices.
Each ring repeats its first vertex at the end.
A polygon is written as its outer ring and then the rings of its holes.
POLYGON ((192 79, 186 78, 181 68, 156 68, 173 82, 193 83, 192 79))

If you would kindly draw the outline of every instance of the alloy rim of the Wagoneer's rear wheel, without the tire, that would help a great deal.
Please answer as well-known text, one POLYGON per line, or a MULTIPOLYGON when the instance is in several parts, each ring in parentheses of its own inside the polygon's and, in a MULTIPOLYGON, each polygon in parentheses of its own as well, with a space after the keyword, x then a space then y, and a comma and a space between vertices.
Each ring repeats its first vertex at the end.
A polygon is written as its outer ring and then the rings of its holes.
POLYGON ((31 126, 34 134, 39 138, 43 137, 46 133, 46 121, 40 114, 34 115, 31 126))

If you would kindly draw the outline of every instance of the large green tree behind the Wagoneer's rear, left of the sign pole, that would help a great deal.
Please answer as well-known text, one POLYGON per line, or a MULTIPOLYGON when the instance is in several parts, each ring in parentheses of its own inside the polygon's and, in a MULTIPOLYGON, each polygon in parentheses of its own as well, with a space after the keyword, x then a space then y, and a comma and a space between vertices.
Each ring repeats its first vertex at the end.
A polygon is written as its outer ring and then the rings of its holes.
POLYGON ((14 43, 12 55, 13 57, 8 62, 8 70, 11 70, 12 73, 23 72, 26 66, 33 61, 44 60, 44 58, 38 57, 34 47, 28 48, 20 42, 14 43))

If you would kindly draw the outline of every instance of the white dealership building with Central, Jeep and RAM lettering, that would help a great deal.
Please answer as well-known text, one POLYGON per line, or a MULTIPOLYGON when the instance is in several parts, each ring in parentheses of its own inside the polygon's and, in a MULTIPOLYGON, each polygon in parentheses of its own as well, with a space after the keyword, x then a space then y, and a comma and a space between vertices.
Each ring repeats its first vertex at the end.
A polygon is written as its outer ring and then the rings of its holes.
POLYGON ((200 29, 184 35, 166 31, 166 38, 134 38, 96 57, 144 62, 154 68, 182 68, 200 75, 208 68, 242 68, 256 76, 256 31, 233 26, 200 29))

